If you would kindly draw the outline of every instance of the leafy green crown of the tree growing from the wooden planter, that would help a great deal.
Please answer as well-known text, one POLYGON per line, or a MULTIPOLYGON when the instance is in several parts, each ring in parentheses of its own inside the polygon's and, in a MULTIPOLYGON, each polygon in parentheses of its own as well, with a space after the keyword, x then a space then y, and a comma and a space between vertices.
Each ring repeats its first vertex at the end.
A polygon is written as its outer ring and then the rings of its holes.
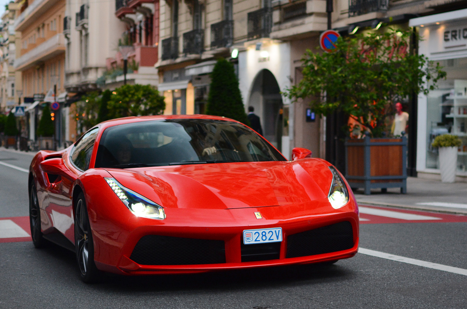
POLYGON ((427 94, 446 77, 439 63, 410 52, 411 35, 411 30, 387 28, 340 37, 329 53, 308 49, 303 79, 286 94, 292 101, 310 99, 318 114, 353 115, 371 136, 381 137, 396 102, 427 94))

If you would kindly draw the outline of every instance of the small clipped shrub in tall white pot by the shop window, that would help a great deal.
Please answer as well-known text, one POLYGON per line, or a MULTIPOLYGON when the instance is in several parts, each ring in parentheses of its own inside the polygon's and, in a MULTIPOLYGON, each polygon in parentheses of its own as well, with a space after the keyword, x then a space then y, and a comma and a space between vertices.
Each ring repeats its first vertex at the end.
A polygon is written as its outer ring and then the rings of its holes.
POLYGON ((432 147, 439 151, 439 169, 442 183, 453 183, 456 179, 457 147, 462 145, 459 137, 451 134, 439 135, 432 147))

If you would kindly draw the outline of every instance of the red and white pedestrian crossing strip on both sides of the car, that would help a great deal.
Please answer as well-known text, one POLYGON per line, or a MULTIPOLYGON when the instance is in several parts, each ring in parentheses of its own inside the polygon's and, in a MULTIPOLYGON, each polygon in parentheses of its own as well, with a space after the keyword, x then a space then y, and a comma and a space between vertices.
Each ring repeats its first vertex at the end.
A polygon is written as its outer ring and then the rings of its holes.
MULTIPOLYGON (((467 222, 467 216, 360 205, 360 224, 467 222)), ((31 241, 29 217, 0 218, 0 243, 31 241)))

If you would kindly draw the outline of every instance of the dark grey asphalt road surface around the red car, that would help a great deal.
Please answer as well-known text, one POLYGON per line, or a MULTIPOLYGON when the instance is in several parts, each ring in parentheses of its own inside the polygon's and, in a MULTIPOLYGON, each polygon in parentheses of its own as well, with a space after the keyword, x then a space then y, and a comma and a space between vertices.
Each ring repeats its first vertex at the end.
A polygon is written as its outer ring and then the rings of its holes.
MULTIPOLYGON (((30 155, 0 151, 28 169, 30 155)), ((27 173, 0 164, 0 218, 28 215, 27 173)), ((360 246, 467 269, 467 223, 362 224, 360 246)), ((467 308, 467 276, 358 253, 323 267, 82 283, 74 253, 0 243, 0 308, 467 308)))

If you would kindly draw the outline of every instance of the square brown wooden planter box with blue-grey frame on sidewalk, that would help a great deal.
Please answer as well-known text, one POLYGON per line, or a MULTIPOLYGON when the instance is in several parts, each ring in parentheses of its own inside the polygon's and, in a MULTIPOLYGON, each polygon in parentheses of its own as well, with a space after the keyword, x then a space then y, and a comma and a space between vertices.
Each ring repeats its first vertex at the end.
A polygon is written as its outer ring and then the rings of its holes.
POLYGON ((401 188, 407 193, 407 137, 347 139, 346 179, 353 189, 401 188))

